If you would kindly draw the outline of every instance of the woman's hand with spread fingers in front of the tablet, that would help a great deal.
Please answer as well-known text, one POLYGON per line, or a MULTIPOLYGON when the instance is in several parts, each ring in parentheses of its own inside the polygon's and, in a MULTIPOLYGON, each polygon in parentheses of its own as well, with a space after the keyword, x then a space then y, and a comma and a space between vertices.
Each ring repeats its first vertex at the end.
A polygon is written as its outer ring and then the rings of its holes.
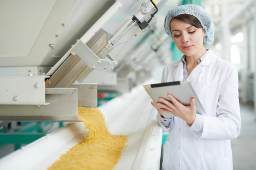
POLYGON ((183 119, 187 124, 192 125, 195 121, 197 107, 194 98, 191 98, 190 105, 184 106, 182 103, 177 101, 173 95, 168 94, 167 97, 171 100, 171 102, 167 101, 166 99, 160 97, 159 101, 157 102, 158 106, 160 106, 160 111, 171 113, 183 119))

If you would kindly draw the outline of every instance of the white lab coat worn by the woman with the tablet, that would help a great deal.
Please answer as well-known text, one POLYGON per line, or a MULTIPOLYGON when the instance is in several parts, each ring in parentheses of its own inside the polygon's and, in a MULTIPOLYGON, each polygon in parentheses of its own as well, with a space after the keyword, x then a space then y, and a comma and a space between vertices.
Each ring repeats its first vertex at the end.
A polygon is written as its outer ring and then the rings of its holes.
MULTIPOLYGON (((182 60, 165 66, 162 82, 181 80, 182 60)), ((230 139, 239 135, 241 126, 236 66, 209 51, 187 80, 206 115, 197 114, 191 127, 179 117, 165 127, 163 118, 157 115, 161 128, 169 132, 163 146, 162 170, 232 170, 230 139)))

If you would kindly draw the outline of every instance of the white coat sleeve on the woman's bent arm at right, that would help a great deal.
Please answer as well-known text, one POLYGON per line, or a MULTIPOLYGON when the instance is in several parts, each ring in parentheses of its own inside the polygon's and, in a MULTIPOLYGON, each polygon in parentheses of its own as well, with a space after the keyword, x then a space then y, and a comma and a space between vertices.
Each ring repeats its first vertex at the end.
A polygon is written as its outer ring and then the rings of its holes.
POLYGON ((240 133, 240 127, 238 73, 237 68, 232 66, 220 87, 216 117, 197 114, 190 128, 196 137, 225 140, 236 138, 240 133))

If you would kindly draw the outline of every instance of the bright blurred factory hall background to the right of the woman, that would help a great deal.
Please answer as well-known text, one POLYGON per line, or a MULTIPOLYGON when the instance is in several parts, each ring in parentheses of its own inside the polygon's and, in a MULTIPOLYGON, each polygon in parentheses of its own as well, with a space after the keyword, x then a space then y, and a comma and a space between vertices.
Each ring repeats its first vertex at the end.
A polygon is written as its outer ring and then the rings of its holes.
POLYGON ((235 64, 239 73, 241 133, 231 140, 236 170, 256 168, 255 5, 253 0, 202 1, 215 24, 215 42, 210 48, 235 64))

